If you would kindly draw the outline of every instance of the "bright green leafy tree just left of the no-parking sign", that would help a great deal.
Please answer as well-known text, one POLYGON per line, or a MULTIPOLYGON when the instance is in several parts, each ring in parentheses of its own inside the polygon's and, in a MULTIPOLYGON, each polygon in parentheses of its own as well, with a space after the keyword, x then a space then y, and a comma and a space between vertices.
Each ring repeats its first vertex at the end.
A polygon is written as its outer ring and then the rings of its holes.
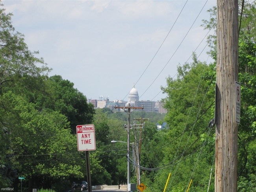
POLYGON ((25 176, 30 186, 44 177, 49 182, 43 183, 44 187, 60 178, 82 177, 76 137, 70 134, 64 115, 38 112, 35 104, 11 92, 4 94, 3 100, 10 107, 1 111, 6 122, 6 162, 17 174, 25 176))

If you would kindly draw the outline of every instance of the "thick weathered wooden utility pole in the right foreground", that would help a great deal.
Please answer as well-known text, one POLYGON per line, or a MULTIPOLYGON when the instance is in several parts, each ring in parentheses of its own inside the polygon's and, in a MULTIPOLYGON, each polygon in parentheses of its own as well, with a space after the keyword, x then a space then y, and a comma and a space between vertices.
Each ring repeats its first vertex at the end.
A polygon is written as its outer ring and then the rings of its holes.
POLYGON ((238 1, 217 0, 215 192, 237 191, 238 1))

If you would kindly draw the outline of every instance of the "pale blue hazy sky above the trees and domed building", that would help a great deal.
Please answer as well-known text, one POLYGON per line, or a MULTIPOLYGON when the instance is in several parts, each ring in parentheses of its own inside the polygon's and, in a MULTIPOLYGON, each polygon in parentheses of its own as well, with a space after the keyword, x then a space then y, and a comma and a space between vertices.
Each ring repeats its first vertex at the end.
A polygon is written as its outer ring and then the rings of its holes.
MULTIPOLYGON (((87 99, 165 98, 177 66, 208 57, 202 20, 216 0, 2 0, 29 50, 87 99), (183 8, 184 7, 184 8, 183 8)), ((208 34, 213 34, 210 31, 208 34)))

